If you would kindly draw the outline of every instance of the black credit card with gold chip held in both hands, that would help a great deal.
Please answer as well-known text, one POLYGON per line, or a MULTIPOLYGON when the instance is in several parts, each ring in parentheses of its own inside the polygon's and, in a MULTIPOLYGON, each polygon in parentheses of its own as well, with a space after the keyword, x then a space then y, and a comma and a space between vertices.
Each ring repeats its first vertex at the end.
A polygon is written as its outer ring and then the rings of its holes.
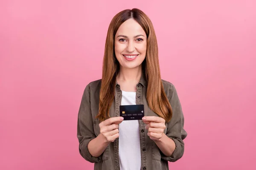
POLYGON ((141 120, 144 117, 144 105, 120 105, 120 116, 124 120, 141 120))

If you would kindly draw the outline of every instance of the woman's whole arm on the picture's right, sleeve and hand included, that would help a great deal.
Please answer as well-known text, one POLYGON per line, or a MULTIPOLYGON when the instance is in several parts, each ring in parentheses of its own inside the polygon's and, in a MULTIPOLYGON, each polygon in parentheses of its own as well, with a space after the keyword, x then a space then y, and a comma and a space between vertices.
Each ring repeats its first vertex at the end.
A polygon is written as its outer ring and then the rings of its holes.
POLYGON ((143 122, 148 129, 148 136, 154 140, 158 148, 162 151, 161 157, 166 161, 177 161, 183 156, 184 142, 187 136, 183 129, 183 113, 181 111, 180 101, 173 85, 169 88, 169 102, 172 106, 172 119, 167 124, 166 134, 163 133, 166 128, 165 120, 157 116, 145 116, 143 122))

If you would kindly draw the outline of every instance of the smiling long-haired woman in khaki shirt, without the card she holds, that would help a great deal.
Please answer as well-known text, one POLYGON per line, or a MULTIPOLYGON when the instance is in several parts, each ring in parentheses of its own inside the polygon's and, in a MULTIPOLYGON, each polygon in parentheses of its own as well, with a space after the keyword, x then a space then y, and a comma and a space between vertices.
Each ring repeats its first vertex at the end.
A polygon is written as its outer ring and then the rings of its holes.
POLYGON ((95 170, 168 170, 183 156, 183 121, 174 85, 160 77, 151 21, 137 8, 119 12, 108 28, 102 79, 82 96, 81 156, 95 170), (144 105, 145 116, 123 121, 120 105, 144 105))

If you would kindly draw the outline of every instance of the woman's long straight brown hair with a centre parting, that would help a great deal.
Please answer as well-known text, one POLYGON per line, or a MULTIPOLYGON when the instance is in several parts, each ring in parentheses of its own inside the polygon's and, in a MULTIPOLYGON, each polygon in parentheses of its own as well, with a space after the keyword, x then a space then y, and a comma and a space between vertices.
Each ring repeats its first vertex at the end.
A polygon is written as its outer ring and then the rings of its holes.
POLYGON ((113 17, 109 25, 103 58, 99 113, 96 118, 99 118, 102 122, 110 117, 109 109, 115 96, 116 76, 119 71, 119 62, 116 59, 114 50, 114 38, 119 26, 130 18, 136 20, 147 35, 147 51, 143 61, 143 70, 147 81, 146 99, 149 108, 165 119, 166 122, 169 122, 172 118, 172 108, 165 94, 160 76, 157 37, 151 20, 143 11, 137 8, 119 12, 113 17))

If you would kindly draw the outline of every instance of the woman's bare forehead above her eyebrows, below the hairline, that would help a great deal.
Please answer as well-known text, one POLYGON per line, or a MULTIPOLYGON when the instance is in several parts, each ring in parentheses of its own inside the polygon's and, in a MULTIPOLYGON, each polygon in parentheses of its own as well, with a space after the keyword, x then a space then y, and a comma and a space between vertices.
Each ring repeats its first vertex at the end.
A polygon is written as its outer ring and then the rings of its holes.
POLYGON ((134 37, 135 35, 138 35, 138 34, 142 34, 144 36, 146 35, 143 28, 134 19, 126 20, 124 23, 122 23, 122 25, 118 28, 116 32, 116 36, 126 35, 128 37, 129 36, 134 37))

